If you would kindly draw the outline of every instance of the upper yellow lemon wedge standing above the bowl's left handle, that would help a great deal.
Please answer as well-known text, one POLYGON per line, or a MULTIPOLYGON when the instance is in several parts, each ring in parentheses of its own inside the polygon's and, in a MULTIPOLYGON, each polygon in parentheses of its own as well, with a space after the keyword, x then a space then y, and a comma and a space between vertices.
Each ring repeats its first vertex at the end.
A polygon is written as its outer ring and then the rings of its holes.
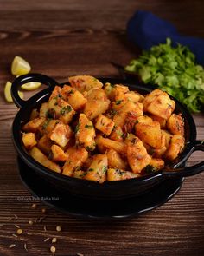
POLYGON ((11 73, 13 75, 25 75, 31 70, 29 62, 26 62, 22 57, 16 56, 11 64, 11 73))

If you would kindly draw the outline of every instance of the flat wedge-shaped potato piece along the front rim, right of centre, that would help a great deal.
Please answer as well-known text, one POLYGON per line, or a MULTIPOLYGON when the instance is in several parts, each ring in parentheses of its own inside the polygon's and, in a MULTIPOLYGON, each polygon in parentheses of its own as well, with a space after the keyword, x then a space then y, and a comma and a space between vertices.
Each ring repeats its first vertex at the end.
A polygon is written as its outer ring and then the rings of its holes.
POLYGON ((134 174, 129 171, 109 168, 107 170, 107 181, 121 181, 140 177, 140 174, 134 174))

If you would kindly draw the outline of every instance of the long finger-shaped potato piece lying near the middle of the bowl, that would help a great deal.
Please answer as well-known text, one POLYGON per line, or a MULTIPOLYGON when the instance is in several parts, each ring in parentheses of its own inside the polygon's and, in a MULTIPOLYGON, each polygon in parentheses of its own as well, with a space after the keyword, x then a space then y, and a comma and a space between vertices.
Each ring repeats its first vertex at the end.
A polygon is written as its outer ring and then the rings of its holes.
POLYGON ((126 145, 121 141, 112 141, 107 138, 100 136, 96 141, 98 147, 114 149, 120 154, 126 154, 126 145))

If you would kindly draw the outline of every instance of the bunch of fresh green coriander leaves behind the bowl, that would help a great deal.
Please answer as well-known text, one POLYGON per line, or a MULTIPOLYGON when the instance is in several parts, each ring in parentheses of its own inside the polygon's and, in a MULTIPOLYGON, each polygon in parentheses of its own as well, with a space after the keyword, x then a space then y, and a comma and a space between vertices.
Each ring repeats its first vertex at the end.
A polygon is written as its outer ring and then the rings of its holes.
POLYGON ((144 83, 155 84, 187 106, 201 112, 204 104, 204 69, 195 63, 194 54, 186 46, 166 43, 151 47, 130 62, 125 70, 139 75, 144 83))

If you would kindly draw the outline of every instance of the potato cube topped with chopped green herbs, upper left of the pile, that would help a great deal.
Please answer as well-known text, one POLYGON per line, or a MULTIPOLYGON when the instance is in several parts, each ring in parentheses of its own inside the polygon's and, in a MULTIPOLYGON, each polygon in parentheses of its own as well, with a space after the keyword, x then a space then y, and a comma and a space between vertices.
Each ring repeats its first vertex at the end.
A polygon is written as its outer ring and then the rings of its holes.
POLYGON ((54 97, 48 102, 48 114, 54 119, 60 119, 65 124, 73 119, 75 111, 72 106, 60 97, 54 97))

